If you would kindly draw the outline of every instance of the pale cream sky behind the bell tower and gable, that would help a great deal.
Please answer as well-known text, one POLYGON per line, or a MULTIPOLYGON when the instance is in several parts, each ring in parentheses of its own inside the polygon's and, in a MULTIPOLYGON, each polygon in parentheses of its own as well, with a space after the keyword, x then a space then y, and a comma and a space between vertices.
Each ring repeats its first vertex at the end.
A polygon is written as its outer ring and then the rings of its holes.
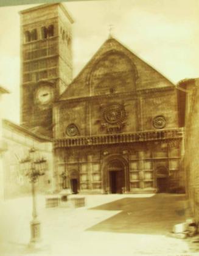
MULTIPOLYGON (((74 76, 113 35, 170 81, 199 77, 198 0, 66 2, 72 14, 74 76)), ((10 90, 3 117, 19 123, 19 14, 35 5, 0 8, 0 84, 10 90)))

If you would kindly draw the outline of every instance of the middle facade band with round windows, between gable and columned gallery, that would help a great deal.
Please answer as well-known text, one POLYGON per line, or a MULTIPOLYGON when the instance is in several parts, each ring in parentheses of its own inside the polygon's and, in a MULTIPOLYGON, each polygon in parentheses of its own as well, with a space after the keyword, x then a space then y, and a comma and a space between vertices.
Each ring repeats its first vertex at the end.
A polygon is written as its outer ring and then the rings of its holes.
MULTIPOLYGON (((174 88, 156 92, 136 92, 88 100, 61 101, 54 109, 55 138, 70 137, 68 129, 74 125, 80 136, 114 132, 135 132, 155 130, 153 120, 164 117, 164 128, 178 127, 177 97, 174 88), (111 108, 120 111, 120 123, 114 125, 108 120, 111 108)), ((111 117, 110 117, 111 118, 111 117)))

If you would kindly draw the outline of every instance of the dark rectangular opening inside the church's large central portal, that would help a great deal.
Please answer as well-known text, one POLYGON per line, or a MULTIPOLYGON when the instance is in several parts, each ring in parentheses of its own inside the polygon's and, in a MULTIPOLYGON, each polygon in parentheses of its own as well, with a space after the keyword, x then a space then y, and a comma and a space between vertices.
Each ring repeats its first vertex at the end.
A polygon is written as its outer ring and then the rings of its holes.
POLYGON ((124 171, 113 170, 110 171, 110 192, 112 194, 122 194, 122 188, 124 187, 124 171))

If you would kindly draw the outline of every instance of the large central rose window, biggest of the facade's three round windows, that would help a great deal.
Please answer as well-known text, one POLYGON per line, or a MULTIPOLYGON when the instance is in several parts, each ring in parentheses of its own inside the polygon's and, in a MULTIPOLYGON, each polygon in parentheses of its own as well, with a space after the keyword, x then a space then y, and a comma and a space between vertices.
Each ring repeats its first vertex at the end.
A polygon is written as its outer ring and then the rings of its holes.
POLYGON ((103 116, 108 123, 122 122, 125 118, 124 106, 117 103, 111 104, 105 109, 103 116))

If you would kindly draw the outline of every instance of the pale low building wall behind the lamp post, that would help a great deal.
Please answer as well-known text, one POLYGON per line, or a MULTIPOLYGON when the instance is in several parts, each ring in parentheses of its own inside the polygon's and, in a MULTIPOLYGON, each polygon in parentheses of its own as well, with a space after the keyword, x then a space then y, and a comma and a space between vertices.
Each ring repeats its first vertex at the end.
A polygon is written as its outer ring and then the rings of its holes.
POLYGON ((46 173, 37 183, 40 192, 51 191, 54 188, 52 142, 47 138, 15 125, 10 121, 3 121, 2 137, 7 144, 7 151, 3 154, 4 195, 5 198, 26 196, 30 193, 29 179, 24 168, 19 164, 20 159, 27 156, 30 148, 37 150, 37 155, 46 159, 46 173))

